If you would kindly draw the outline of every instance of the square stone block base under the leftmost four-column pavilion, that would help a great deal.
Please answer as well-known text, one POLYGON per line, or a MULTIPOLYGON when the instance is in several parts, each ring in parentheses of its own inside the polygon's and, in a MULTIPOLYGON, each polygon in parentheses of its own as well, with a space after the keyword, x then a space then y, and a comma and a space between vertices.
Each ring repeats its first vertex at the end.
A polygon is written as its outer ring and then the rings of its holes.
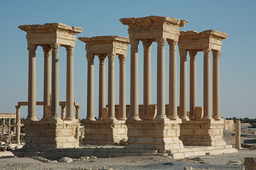
POLYGON ((75 139, 78 120, 26 119, 25 145, 23 148, 73 148, 79 147, 75 139))

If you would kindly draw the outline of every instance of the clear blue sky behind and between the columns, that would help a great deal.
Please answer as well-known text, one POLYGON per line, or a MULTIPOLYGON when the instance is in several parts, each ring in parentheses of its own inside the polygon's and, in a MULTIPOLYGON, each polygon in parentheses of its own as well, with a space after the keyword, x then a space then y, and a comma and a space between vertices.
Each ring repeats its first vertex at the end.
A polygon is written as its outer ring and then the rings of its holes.
MULTIPOLYGON (((218 30, 229 34, 222 41, 220 56, 220 97, 222 117, 256 118, 256 1, 254 0, 0 0, 0 113, 16 113, 18 101, 27 101, 28 50, 26 32, 19 25, 63 23, 82 27, 77 37, 128 36, 120 18, 151 15, 188 20, 180 30, 218 30)), ((168 103, 168 44, 166 44, 166 103, 168 103)), ((85 43, 75 46, 75 101, 80 117, 86 117, 87 61, 85 43)), ((130 103, 130 46, 127 54, 127 104, 130 103)), ((178 49, 178 48, 177 48, 178 49)), ((156 103, 156 43, 152 45, 152 104, 156 103)), ((60 101, 66 100, 66 50, 60 48, 60 101)), ((37 101, 43 101, 43 51, 37 47, 37 101)), ((139 45, 140 91, 142 92, 143 47, 139 45)), ((187 56, 187 58, 189 58, 187 56)), ((179 96, 179 54, 178 96, 179 96)), ((95 57, 95 116, 98 117, 98 57, 95 57)), ((107 62, 106 62, 107 63, 107 62)), ((115 104, 118 104, 119 61, 115 62, 115 104)), ((189 70, 189 60, 187 62, 189 70)), ((106 64, 106 69, 108 65, 106 64)), ((211 68, 212 69, 212 68, 211 68)), ((189 75, 189 74, 188 74, 189 75)), ((107 75, 106 75, 107 78, 107 75)), ((107 80, 107 79, 106 79, 107 80)), ((189 76, 188 76, 189 83, 189 76)), ((188 84, 189 87, 189 84, 188 84)), ((140 104, 143 94, 140 92, 140 104)), ((189 89, 188 89, 189 94, 189 89)), ((189 99, 189 96, 188 96, 189 99)), ((107 100, 106 100, 107 101, 107 100)), ((106 103, 107 104, 107 103, 106 103)), ((179 105, 179 99, 178 99, 179 105)), ((203 53, 197 55, 197 106, 203 106, 203 53)), ((189 102, 188 102, 189 108, 189 102)), ((42 118, 43 107, 37 106, 42 118)), ((27 106, 21 107, 27 117, 27 106)))

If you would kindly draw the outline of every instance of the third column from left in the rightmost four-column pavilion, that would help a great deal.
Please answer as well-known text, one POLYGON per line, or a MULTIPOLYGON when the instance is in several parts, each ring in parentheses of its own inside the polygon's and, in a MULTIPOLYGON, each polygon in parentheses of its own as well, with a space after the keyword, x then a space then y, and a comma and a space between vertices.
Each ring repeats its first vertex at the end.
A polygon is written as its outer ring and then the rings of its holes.
POLYGON ((204 52, 204 116, 202 119, 211 117, 211 49, 203 49, 204 52))

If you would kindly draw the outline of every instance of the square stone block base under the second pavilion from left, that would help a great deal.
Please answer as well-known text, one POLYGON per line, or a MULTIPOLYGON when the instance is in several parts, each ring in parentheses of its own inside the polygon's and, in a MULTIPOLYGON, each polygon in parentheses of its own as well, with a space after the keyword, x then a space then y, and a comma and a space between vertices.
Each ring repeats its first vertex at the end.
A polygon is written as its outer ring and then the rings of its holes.
POLYGON ((104 120, 85 121, 85 137, 82 144, 119 144, 127 140, 125 121, 105 122, 104 120))

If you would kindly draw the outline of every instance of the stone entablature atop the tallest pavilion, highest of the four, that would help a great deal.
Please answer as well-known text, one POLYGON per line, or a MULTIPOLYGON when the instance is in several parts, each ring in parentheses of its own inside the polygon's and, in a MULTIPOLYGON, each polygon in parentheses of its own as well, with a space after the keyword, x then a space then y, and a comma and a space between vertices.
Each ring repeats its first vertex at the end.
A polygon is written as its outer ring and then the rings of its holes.
POLYGON ((155 42, 158 37, 165 37, 167 41, 178 40, 180 27, 188 23, 177 18, 148 16, 142 18, 122 18, 122 24, 128 25, 130 39, 150 40, 155 42))

